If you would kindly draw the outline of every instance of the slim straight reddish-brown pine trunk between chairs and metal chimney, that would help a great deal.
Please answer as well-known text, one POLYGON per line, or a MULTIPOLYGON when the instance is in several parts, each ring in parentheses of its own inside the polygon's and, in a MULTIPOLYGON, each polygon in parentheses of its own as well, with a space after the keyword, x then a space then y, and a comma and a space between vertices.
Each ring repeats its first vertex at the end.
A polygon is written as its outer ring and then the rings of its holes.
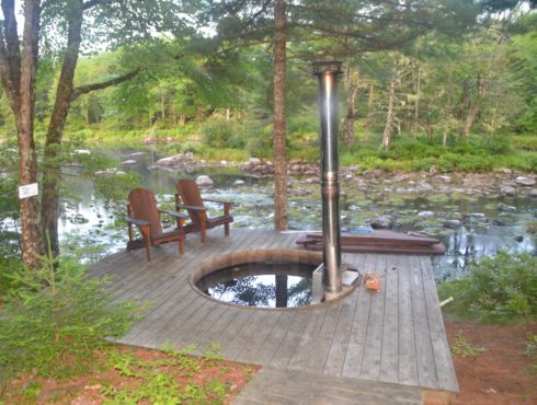
POLYGON ((286 230, 287 154, 285 149, 285 71, 286 20, 285 1, 274 2, 274 228, 286 230))

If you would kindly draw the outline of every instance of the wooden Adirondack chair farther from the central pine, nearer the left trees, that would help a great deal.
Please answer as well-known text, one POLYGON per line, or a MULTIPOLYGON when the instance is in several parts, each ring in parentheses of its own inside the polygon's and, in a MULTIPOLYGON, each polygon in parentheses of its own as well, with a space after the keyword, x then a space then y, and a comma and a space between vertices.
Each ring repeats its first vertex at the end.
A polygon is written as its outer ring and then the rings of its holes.
POLYGON ((128 243, 127 251, 146 247, 147 261, 151 262, 151 246, 174 242, 179 244, 179 253, 184 253, 183 223, 188 216, 176 211, 158 209, 155 194, 147 188, 135 188, 128 194, 127 224, 128 243), (168 213, 175 218, 178 228, 172 231, 162 231, 160 215, 168 213), (133 225, 138 227, 142 240, 134 239, 133 225))

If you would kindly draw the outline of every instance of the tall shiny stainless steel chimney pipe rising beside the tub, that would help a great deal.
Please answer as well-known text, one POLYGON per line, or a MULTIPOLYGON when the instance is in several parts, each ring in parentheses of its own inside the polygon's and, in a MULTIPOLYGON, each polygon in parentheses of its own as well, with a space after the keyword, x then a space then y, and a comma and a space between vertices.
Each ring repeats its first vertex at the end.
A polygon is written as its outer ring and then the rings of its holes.
POLYGON ((313 63, 319 79, 319 140, 321 149, 321 196, 323 286, 325 294, 341 292, 340 182, 338 153, 338 77, 341 62, 313 63))

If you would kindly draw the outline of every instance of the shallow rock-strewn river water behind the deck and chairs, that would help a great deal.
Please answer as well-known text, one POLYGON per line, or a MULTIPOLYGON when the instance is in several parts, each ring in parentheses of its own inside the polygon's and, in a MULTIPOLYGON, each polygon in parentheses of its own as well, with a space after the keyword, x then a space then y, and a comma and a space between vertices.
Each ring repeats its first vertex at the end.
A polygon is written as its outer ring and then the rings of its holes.
MULTIPOLYGON (((238 167, 227 165, 151 170, 148 167, 157 157, 147 150, 122 151, 119 158, 136 160, 136 164, 119 170, 140 174, 142 185, 152 189, 163 204, 171 206, 179 178, 205 174, 213 178, 214 185, 204 189, 204 196, 236 202, 231 212, 233 227, 273 227, 271 177, 245 176, 238 167), (237 185, 239 180, 244 183, 237 185)), ((396 231, 421 232, 441 239, 446 254, 433 258, 437 280, 464 275, 471 261, 494 255, 499 250, 536 252, 537 238, 527 230, 527 224, 537 219, 534 198, 469 190, 462 186, 464 178, 456 175, 449 184, 429 182, 433 184, 427 186, 431 189, 416 188, 423 186, 416 175, 399 180, 391 175, 365 177, 350 176, 341 181, 342 228, 369 227, 373 219, 380 217, 388 218, 396 231), (450 224, 454 228, 446 228, 446 221, 454 220, 455 225, 450 224)), ((66 248, 83 246, 88 259, 125 248, 127 232, 119 213, 124 212, 126 195, 125 201, 105 200, 95 192, 93 183, 78 175, 73 167, 66 169, 64 182, 69 195, 62 199, 59 232, 66 248)), ((289 178, 288 206, 289 229, 321 228, 320 186, 315 177, 289 178)), ((216 206, 209 208, 218 212, 216 206)))

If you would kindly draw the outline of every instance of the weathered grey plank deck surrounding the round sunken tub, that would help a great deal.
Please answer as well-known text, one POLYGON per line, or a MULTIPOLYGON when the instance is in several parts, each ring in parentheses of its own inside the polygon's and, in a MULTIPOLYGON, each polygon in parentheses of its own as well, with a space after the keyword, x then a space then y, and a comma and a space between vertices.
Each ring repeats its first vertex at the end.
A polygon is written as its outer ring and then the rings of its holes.
POLYGON ((295 248, 296 233, 232 229, 188 235, 185 255, 176 246, 106 257, 90 270, 111 275, 117 301, 149 301, 151 308, 119 342, 158 348, 170 342, 221 345, 229 360, 276 369, 457 392, 457 379, 432 274, 424 256, 344 254, 361 273, 377 270, 382 289, 359 287, 342 300, 316 308, 261 310, 209 300, 188 284, 188 274, 218 255, 249 248, 295 248))

